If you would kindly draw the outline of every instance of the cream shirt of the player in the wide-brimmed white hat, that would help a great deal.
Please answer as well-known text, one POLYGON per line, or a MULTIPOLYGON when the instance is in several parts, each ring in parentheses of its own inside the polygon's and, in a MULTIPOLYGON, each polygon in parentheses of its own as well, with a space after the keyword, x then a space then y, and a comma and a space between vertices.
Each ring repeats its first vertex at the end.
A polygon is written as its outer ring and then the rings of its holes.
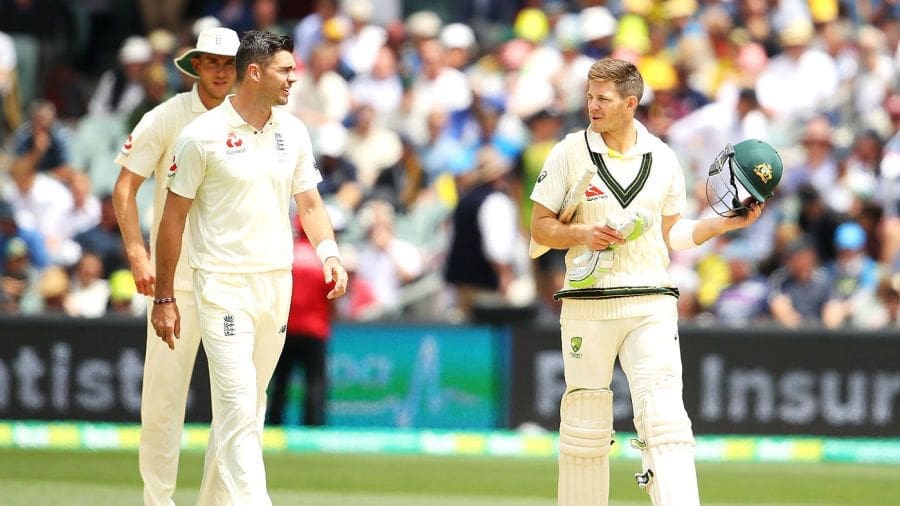
MULTIPOLYGON (((153 185, 153 226, 150 228, 150 261, 153 265, 156 265, 156 236, 166 204, 164 185, 173 162, 175 139, 188 123, 204 112, 206 106, 200 101, 195 84, 191 91, 179 93, 145 114, 116 156, 116 163, 129 171, 145 179, 156 176, 153 185)), ((181 256, 175 269, 176 290, 193 290, 186 253, 191 240, 188 230, 185 230, 181 256)))

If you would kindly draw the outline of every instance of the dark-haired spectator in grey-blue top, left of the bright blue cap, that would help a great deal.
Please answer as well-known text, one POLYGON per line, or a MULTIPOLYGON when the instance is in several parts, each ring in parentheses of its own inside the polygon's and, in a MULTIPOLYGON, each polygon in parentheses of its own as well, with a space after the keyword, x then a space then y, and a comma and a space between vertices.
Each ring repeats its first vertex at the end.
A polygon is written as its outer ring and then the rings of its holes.
POLYGON ((785 327, 822 324, 822 311, 831 293, 828 274, 820 266, 816 248, 799 237, 785 250, 784 266, 770 277, 769 312, 785 327))

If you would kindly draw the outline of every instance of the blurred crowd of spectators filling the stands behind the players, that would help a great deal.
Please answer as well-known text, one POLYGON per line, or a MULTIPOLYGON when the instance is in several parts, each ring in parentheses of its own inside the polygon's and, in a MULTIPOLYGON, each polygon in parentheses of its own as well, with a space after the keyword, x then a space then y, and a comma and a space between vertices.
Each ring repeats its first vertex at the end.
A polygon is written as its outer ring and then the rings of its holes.
POLYGON ((113 159, 190 89, 173 56, 222 25, 294 38, 285 107, 351 272, 340 319, 556 318, 565 266, 528 258, 528 196, 614 56, 642 72, 638 116, 678 154, 689 217, 711 212, 725 144, 784 160, 753 227, 673 254, 682 321, 900 328, 898 18, 891 0, 3 2, 0 312, 144 311, 113 159))

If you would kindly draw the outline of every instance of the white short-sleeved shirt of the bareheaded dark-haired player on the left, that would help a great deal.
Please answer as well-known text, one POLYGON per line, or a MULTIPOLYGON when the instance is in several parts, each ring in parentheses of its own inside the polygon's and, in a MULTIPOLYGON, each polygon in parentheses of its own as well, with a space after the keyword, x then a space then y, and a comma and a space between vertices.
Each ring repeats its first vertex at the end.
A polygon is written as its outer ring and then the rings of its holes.
POLYGON ((188 260, 209 272, 290 270, 291 198, 322 180, 309 133, 277 107, 256 131, 231 99, 191 122, 175 143, 169 189, 194 200, 188 260))

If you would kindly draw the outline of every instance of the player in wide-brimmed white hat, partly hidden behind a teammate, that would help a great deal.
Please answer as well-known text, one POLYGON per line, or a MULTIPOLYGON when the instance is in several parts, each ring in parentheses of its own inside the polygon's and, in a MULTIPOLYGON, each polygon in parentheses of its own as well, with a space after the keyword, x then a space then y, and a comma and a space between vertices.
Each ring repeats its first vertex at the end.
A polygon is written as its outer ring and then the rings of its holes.
MULTIPOLYGON (((156 274, 156 236, 166 201, 164 183, 172 166, 175 139, 181 130, 209 108, 222 103, 234 89, 237 72, 234 55, 240 40, 234 30, 208 28, 197 38, 197 46, 175 59, 181 72, 197 79, 193 89, 166 100, 141 118, 122 146, 116 163, 122 167, 113 190, 116 219, 131 263, 138 291, 152 297, 156 274), (137 193, 154 176, 153 222, 150 229, 150 255, 138 220, 137 193)), ((186 234, 187 235, 187 234, 186 234)), ((190 241, 190 237, 185 237, 190 241)), ((144 482, 144 504, 174 504, 184 425, 185 405, 194 360, 200 346, 200 325, 193 303, 193 281, 186 255, 179 258, 175 272, 175 297, 181 302, 180 346, 170 350, 150 325, 148 309, 147 349, 141 392, 141 437, 138 452, 144 482)), ((151 299, 147 300, 152 306, 151 299)), ((207 466, 204 479, 214 476, 207 466)), ((208 504, 200 497, 201 504, 208 504)))

